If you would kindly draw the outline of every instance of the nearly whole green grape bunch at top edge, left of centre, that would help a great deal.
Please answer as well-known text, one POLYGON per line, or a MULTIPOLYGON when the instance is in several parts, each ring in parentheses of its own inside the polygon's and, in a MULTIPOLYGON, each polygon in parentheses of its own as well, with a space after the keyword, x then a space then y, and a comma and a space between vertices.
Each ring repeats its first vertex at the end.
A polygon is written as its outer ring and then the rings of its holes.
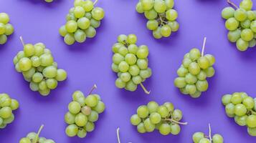
POLYGON ((82 43, 86 38, 96 35, 96 28, 100 26, 100 20, 104 18, 105 11, 100 7, 94 7, 98 0, 75 0, 74 7, 66 16, 67 23, 60 27, 60 35, 64 37, 67 45, 75 41, 82 43))

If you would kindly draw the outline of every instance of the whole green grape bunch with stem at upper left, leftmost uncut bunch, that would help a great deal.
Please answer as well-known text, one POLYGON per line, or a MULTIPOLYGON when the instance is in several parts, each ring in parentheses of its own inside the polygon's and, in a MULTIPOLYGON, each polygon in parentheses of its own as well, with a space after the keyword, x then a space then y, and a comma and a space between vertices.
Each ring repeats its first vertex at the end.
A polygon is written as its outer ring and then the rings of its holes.
POLYGON ((22 37, 21 40, 24 49, 14 56, 15 69, 30 83, 32 91, 47 96, 58 82, 67 79, 67 72, 57 68, 57 62, 44 44, 24 44, 22 37))

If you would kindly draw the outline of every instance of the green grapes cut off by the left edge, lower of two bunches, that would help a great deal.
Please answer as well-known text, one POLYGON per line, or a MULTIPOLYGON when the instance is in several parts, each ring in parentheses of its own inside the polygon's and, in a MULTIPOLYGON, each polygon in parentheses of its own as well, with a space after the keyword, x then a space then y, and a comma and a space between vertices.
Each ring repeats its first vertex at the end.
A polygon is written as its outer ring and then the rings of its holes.
POLYGON ((8 94, 0 94, 0 129, 14 121, 13 111, 19 108, 19 102, 8 94))

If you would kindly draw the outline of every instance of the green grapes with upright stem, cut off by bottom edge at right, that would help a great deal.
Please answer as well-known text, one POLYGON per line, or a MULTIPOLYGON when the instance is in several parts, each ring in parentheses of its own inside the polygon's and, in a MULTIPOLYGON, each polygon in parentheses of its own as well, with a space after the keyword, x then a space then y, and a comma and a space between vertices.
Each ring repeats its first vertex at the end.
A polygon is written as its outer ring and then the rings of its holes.
POLYGON ((206 135, 203 132, 195 132, 192 138, 194 143, 223 143, 224 142, 222 135, 214 134, 212 136, 212 129, 210 124, 209 124, 209 135, 206 135))

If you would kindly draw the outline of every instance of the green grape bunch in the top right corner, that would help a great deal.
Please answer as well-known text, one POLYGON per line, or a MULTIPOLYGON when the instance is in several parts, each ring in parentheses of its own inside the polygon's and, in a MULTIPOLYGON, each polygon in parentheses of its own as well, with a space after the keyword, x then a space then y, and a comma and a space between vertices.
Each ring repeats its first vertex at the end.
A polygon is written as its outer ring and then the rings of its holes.
POLYGON ((236 43, 237 49, 246 51, 248 47, 256 45, 256 11, 252 11, 252 1, 243 0, 238 8, 228 6, 222 10, 222 18, 227 19, 225 26, 229 30, 227 38, 236 43))

